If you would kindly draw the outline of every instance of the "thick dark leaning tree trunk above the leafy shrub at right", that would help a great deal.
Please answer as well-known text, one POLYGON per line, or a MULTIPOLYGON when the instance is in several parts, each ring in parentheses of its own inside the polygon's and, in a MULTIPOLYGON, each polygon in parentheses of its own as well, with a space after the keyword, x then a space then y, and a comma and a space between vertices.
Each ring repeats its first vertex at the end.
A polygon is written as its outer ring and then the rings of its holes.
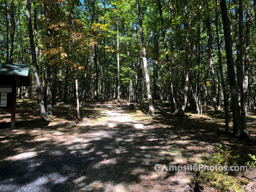
POLYGON ((230 85, 230 96, 231 96, 231 105, 232 105, 232 116, 233 116, 233 134, 236 137, 242 136, 242 138, 250 137, 248 131, 241 133, 242 121, 240 115, 240 109, 238 104, 238 94, 236 88, 236 76, 234 69, 234 60, 232 54, 232 43, 231 43, 231 32, 230 32, 230 22, 228 20, 226 0, 220 1, 220 9, 223 22, 224 30, 224 39, 225 39, 225 50, 226 50, 226 59, 228 67, 228 81, 230 85))

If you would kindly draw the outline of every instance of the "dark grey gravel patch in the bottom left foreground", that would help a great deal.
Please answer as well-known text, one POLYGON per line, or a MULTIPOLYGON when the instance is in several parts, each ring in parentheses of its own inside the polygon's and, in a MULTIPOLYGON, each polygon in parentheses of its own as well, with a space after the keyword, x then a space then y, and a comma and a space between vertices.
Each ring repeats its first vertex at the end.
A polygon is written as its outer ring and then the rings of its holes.
POLYGON ((66 191, 93 157, 81 154, 49 156, 42 153, 0 166, 1 192, 66 191))

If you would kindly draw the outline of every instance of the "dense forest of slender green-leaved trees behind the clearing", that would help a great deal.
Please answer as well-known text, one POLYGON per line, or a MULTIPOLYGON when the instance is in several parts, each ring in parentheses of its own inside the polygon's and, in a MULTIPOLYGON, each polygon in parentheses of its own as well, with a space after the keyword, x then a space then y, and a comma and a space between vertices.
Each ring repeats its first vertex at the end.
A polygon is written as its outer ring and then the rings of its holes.
POLYGON ((212 126, 223 119, 218 134, 255 140, 248 129, 248 121, 256 124, 254 0, 0 3, 0 63, 30 66, 31 84, 20 86, 17 98, 36 98, 40 119, 54 122, 71 104, 75 121, 95 120, 110 110, 104 101, 115 101, 128 113, 146 110, 152 124, 161 112, 174 123, 191 112, 198 122, 211 114, 212 126), (99 110, 88 112, 93 105, 99 110))

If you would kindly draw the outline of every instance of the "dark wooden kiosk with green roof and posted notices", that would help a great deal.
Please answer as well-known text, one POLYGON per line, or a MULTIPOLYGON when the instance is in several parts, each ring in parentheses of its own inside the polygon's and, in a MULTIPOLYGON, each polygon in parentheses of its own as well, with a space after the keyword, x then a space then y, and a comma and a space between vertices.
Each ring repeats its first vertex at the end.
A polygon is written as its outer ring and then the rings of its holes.
POLYGON ((10 111, 15 127, 17 86, 30 86, 29 65, 0 63, 0 110, 10 111))

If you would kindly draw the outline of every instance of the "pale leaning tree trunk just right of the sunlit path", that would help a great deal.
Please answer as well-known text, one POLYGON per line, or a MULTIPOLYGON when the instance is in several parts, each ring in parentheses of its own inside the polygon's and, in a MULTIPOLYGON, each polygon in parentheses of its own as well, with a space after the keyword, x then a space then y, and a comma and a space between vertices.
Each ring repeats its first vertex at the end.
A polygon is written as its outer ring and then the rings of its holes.
POLYGON ((137 14, 138 14, 139 28, 140 28, 140 40, 141 40, 141 44, 142 44, 142 60, 143 60, 143 66, 144 66, 144 71, 145 71, 147 94, 148 94, 149 110, 148 110, 147 116, 156 116, 153 101, 152 101, 152 96, 151 96, 151 92, 150 92, 150 79, 149 79, 149 75, 148 75, 148 62, 147 62, 147 58, 146 58, 146 48, 145 48, 144 34, 143 34, 143 30, 142 30, 142 20, 141 20, 141 16, 140 16, 139 0, 136 0, 136 7, 137 7, 137 14))

